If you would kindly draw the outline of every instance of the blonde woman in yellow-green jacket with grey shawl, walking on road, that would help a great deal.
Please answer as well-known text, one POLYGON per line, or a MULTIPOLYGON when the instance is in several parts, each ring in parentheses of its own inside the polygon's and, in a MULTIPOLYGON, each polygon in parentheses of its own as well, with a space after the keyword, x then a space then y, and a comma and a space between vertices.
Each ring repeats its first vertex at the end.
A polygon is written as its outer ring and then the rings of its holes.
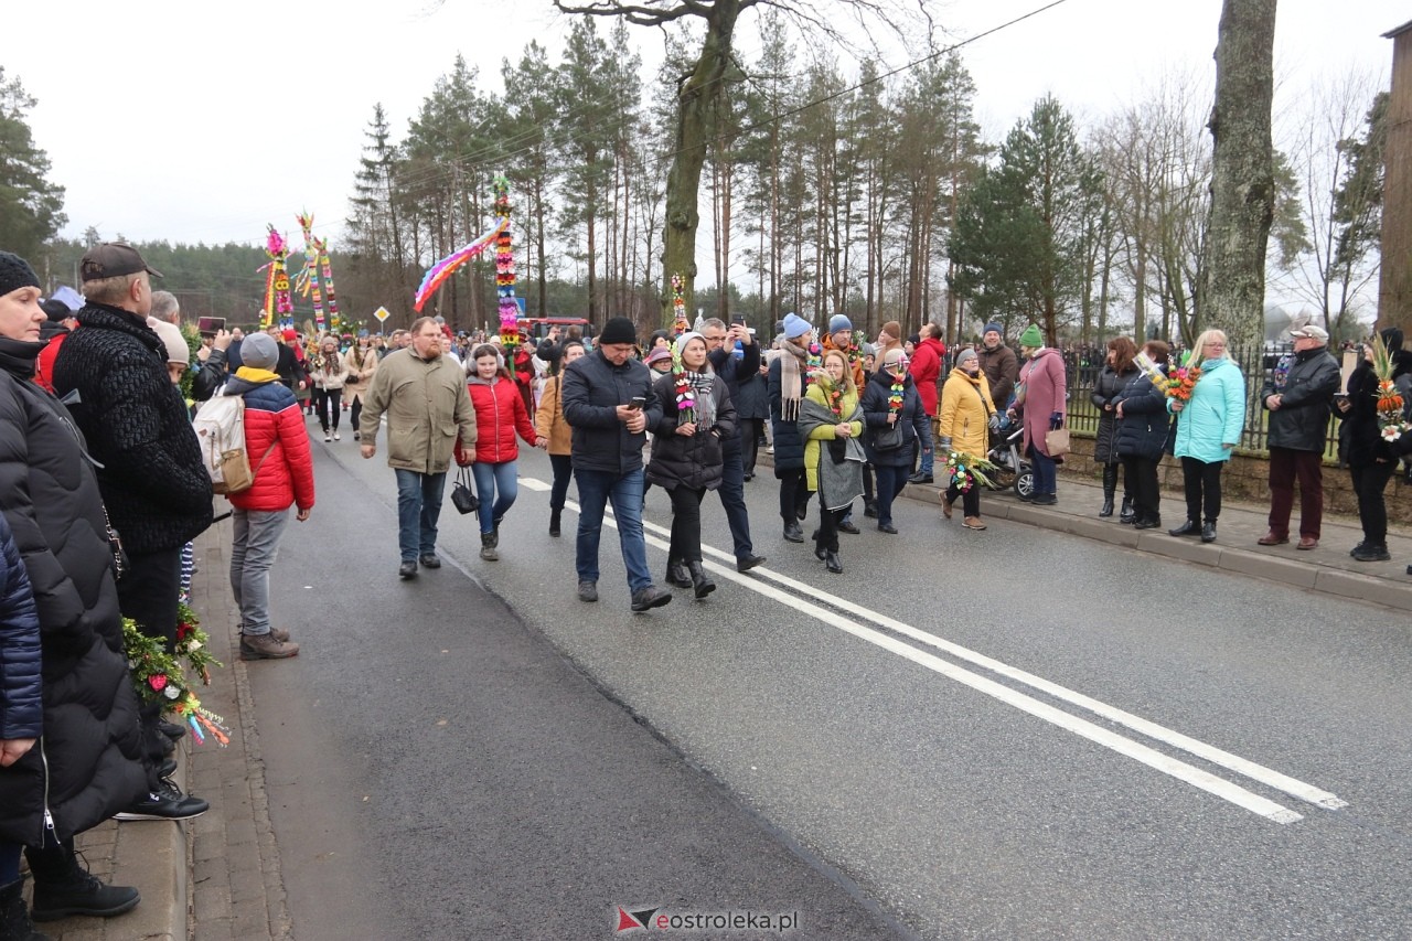
POLYGON ((849 357, 840 350, 826 352, 823 369, 809 379, 799 403, 799 435, 805 439, 805 479, 809 490, 819 493, 813 554, 830 572, 840 574, 839 523, 863 493, 863 410, 849 357))

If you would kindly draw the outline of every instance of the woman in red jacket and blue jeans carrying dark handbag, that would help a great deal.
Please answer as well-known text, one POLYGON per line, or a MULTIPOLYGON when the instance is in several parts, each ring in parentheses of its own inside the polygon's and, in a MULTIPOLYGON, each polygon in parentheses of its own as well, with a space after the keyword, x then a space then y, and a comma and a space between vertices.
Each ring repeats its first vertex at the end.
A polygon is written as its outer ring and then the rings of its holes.
POLYGON ((500 520, 520 493, 515 434, 528 445, 534 445, 535 434, 525 400, 500 350, 490 343, 477 346, 472 352, 472 370, 467 386, 470 404, 476 408, 476 462, 470 470, 476 476, 476 496, 480 497, 480 558, 493 562, 500 558, 496 551, 500 520))

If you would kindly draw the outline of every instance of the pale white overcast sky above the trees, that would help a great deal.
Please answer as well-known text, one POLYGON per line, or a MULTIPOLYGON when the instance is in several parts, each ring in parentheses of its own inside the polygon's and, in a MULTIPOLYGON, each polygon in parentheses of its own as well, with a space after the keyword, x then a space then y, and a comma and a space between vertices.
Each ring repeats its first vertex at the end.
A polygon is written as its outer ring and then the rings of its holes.
MULTIPOLYGON (((827 0, 818 0, 827 1, 827 0)), ((1046 0, 953 0, 936 18, 971 37, 1046 0)), ((549 0, 323 4, 140 0, 7 3, 6 76, 40 99, 30 124, 66 188, 65 235, 96 226, 134 240, 260 242, 267 222, 298 237, 315 213, 337 236, 376 102, 398 136, 457 52, 498 90, 500 59, 530 38, 562 48, 549 0)), ((977 116, 998 140, 1052 92, 1100 116, 1141 97, 1163 69, 1213 71, 1220 0, 1065 0, 963 51, 977 116)), ((1380 35, 1412 16, 1392 0, 1279 0, 1282 88, 1353 68, 1391 71, 1380 35)), ((758 49, 743 18, 744 61, 758 49)), ((644 58, 659 32, 634 28, 644 58)), ((901 65, 902 55, 890 65, 901 65)), ((1278 106, 1278 102, 1276 102, 1278 106)))

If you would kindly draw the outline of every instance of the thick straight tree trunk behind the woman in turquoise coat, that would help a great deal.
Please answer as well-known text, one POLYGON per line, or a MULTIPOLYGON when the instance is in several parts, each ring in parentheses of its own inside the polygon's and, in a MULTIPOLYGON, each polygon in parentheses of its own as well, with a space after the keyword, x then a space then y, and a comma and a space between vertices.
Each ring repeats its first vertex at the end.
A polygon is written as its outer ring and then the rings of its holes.
POLYGON ((1265 244, 1275 216, 1269 107, 1275 0, 1226 0, 1216 44, 1211 211, 1196 315, 1236 346, 1264 339, 1265 244))

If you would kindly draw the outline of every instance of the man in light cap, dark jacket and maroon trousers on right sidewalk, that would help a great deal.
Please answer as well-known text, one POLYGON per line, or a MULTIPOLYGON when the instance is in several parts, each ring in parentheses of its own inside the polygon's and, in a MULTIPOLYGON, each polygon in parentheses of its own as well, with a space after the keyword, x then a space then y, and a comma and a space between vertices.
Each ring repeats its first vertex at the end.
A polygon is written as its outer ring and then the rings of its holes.
POLYGON ((1260 545, 1289 541, 1289 514, 1299 480, 1299 545, 1319 548, 1323 524, 1323 452, 1329 417, 1339 391, 1339 360, 1329 353, 1329 332, 1322 326, 1296 326, 1289 332, 1295 352, 1279 360, 1260 401, 1269 411, 1269 531, 1260 545))

